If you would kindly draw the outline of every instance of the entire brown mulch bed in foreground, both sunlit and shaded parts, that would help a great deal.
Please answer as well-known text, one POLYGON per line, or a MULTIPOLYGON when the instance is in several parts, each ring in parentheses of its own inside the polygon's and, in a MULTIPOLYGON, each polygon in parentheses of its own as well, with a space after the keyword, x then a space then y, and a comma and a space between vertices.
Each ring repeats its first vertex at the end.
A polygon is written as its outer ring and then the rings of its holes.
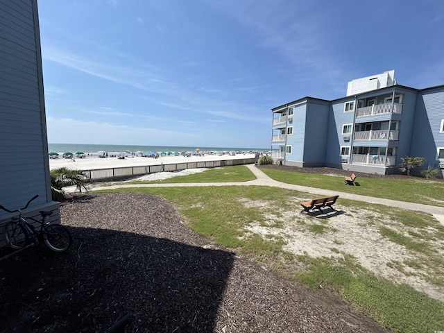
POLYGON ((62 203, 74 237, 0 262, 0 332, 387 332, 332 291, 307 291, 192 232, 140 193, 62 203))

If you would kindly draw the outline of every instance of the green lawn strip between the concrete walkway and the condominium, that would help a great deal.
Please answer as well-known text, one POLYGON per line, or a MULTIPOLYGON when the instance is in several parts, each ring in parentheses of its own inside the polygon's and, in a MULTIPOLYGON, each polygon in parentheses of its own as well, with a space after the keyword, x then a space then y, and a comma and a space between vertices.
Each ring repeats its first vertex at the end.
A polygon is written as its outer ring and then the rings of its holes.
POLYGON ((264 171, 268 177, 287 184, 444 207, 444 182, 440 180, 425 180, 416 177, 406 177, 406 179, 398 180, 359 176, 357 182, 360 186, 345 186, 343 176, 267 168, 262 168, 261 171, 264 171))

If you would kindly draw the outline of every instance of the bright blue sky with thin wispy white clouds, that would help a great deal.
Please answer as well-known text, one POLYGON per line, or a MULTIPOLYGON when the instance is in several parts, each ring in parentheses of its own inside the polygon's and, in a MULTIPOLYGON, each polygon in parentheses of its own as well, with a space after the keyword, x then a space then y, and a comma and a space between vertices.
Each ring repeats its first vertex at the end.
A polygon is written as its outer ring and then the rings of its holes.
POLYGON ((48 141, 267 148, 271 108, 444 84, 442 0, 39 0, 48 141))

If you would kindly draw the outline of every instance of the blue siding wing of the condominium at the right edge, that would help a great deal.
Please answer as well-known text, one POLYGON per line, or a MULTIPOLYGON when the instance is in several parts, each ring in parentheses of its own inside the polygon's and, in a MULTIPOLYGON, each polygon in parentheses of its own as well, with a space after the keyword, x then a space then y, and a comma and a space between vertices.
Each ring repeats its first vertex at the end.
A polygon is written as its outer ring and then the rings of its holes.
POLYGON ((411 155, 427 160, 423 167, 438 167, 436 148, 444 147, 444 133, 440 133, 444 119, 444 87, 423 92, 418 96, 413 125, 411 155))

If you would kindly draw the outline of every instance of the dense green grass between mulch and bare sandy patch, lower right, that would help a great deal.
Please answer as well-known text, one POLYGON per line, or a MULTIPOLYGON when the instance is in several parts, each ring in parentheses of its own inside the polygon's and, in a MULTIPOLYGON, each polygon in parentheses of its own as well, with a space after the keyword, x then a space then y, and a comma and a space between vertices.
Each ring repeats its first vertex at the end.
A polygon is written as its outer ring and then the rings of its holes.
POLYGON ((429 298, 407 284, 377 278, 350 258, 334 262, 327 258, 299 256, 307 271, 294 274, 310 289, 334 288, 343 298, 366 309, 383 326, 396 332, 434 332, 444 326, 444 303, 429 298))

